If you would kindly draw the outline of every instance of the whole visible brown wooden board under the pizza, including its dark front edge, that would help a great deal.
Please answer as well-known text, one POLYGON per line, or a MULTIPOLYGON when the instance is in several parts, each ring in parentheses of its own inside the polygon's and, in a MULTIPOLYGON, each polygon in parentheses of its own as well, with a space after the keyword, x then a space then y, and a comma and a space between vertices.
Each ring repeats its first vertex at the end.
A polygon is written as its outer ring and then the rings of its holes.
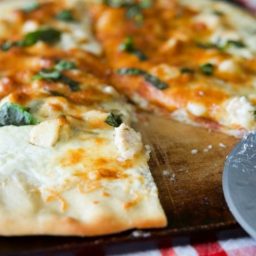
POLYGON ((150 167, 168 227, 96 238, 0 238, 0 254, 76 250, 234 225, 224 201, 221 178, 225 158, 238 140, 153 114, 140 113, 138 120, 137 129, 152 149, 150 167))

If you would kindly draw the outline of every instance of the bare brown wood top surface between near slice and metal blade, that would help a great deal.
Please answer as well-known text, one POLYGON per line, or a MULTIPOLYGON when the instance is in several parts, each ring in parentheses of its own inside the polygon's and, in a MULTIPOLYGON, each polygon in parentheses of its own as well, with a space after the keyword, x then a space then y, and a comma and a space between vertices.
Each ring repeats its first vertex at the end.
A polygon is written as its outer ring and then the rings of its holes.
POLYGON ((138 128, 151 145, 150 167, 169 229, 233 222, 222 192, 225 158, 237 139, 162 117, 141 114, 138 128))

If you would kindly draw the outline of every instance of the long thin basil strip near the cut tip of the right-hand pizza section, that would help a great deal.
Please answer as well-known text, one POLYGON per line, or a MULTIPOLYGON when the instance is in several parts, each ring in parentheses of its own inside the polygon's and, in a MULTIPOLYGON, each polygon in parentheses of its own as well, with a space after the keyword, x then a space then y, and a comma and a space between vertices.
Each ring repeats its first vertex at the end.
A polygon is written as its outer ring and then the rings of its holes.
POLYGON ((138 68, 121 68, 117 70, 117 74, 119 75, 133 75, 133 76, 143 76, 145 81, 150 83, 152 86, 159 90, 164 90, 168 87, 168 84, 161 81, 158 77, 153 76, 147 73, 144 70, 138 68))

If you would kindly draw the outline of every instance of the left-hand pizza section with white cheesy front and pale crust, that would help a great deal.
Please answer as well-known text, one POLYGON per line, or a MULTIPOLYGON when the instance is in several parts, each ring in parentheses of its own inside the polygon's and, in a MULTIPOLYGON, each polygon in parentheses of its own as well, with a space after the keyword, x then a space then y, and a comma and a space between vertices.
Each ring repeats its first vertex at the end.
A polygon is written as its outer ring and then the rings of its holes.
POLYGON ((100 47, 82 6, 6 1, 0 10, 0 234, 164 227, 132 109, 86 52, 100 47))

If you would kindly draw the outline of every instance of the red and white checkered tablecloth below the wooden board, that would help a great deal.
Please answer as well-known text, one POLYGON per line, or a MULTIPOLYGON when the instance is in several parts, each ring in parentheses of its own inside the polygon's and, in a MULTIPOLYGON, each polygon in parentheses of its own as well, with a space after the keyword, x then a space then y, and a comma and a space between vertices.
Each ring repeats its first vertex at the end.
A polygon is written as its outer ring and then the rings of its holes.
MULTIPOLYGON (((161 242, 134 242, 106 248, 83 249, 61 256, 256 256, 256 240, 240 229, 161 242)), ((60 256, 56 255, 56 256, 60 256)))

